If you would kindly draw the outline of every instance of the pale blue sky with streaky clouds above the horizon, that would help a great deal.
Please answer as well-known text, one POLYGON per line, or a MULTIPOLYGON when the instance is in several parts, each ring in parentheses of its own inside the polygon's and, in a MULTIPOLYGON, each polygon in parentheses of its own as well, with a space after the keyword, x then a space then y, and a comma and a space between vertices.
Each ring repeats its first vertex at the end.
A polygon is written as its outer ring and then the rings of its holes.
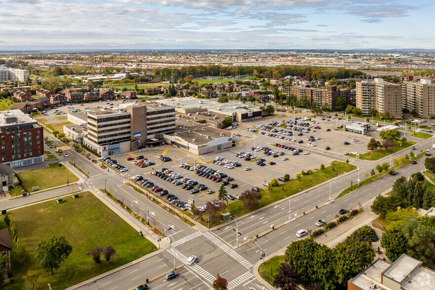
POLYGON ((433 0, 0 0, 0 50, 435 49, 433 0))

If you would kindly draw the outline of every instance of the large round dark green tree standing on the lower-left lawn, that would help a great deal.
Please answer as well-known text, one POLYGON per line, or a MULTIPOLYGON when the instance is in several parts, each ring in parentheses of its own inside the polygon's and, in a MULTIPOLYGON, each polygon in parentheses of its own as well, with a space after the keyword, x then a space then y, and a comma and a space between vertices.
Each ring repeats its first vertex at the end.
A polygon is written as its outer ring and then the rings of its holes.
POLYGON ((72 246, 64 236, 54 235, 43 238, 36 245, 35 258, 39 267, 45 270, 59 269, 60 263, 68 258, 72 252, 72 246))

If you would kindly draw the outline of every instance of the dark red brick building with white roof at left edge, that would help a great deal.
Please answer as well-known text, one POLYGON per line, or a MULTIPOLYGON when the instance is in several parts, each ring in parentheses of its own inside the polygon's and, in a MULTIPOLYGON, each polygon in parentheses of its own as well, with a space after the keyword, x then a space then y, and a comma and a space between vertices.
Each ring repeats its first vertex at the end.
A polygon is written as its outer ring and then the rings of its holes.
POLYGON ((12 167, 44 161, 43 130, 19 109, 0 113, 0 163, 12 167))

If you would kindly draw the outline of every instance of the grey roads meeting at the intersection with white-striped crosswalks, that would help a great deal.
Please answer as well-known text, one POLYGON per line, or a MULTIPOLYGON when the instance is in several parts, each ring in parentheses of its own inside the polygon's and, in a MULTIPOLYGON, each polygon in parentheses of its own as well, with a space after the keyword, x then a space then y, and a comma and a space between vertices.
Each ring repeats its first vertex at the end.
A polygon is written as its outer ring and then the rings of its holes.
MULTIPOLYGON (((54 139, 53 139, 54 140, 54 139)), ((54 140, 58 146, 64 146, 54 140)), ((419 148, 429 148, 432 140, 420 140, 419 148)), ((408 150, 396 153, 395 156, 404 155, 408 150)), ((261 258, 257 250, 264 250, 266 255, 272 254, 295 241, 295 232, 299 229, 316 229, 315 221, 334 219, 340 209, 353 209, 362 204, 368 209, 367 201, 372 200, 377 194, 389 190, 394 181, 400 176, 409 177, 410 174, 424 169, 424 162, 421 159, 416 165, 409 164, 399 170, 398 176, 385 176, 360 189, 357 189, 346 196, 329 203, 329 183, 325 182, 318 187, 293 196, 289 200, 283 200, 267 208, 260 209, 250 215, 237 219, 240 247, 236 247, 236 236, 233 228, 235 222, 228 222, 217 229, 201 231, 181 222, 176 217, 168 215, 163 209, 152 203, 134 189, 123 185, 124 176, 109 169, 103 170, 94 163, 89 162, 83 155, 69 150, 70 157, 62 161, 75 162, 89 178, 78 184, 83 190, 91 190, 94 193, 98 188, 111 188, 113 195, 123 199, 124 204, 132 206, 142 216, 149 214, 157 220, 156 227, 172 228, 165 232, 170 239, 171 246, 162 253, 152 256, 146 260, 134 263, 131 266, 119 269, 104 278, 80 286, 80 289, 130 289, 145 283, 145 279, 152 279, 149 283, 151 289, 210 289, 217 274, 221 274, 229 282, 229 289, 264 289, 254 279, 253 265, 261 258), (315 206, 319 209, 315 210, 315 206), (304 215, 303 212, 306 214, 304 215), (289 216, 291 217, 289 219, 289 216), (275 226, 271 230, 271 226, 275 226), (269 231, 267 234, 262 233, 269 231), (258 234, 260 237, 256 244, 247 243, 258 234), (183 265, 187 257, 196 255, 197 262, 193 266, 183 265), (172 281, 166 281, 163 275, 174 267, 174 256, 177 271, 180 276, 172 281), (158 277, 158 278, 156 278, 158 277), (155 279, 154 279, 155 278, 155 279)), ((314 152, 313 152, 314 153, 314 152)), ((361 168, 373 168, 374 164, 388 162, 389 158, 376 162, 354 160, 354 164, 361 168)), ((360 173, 361 174, 361 173, 360 173)), ((361 179, 362 176, 360 176, 361 179)), ((358 171, 339 176, 331 180, 331 197, 333 198, 342 189, 350 186, 358 179, 358 171)), ((32 198, 42 200, 47 196, 65 194, 68 188, 59 188, 46 191, 26 198, 17 198, 0 203, 6 208, 17 207, 34 201, 32 198)), ((104 196, 104 195, 102 195, 104 196)), ((195 227, 196 228, 196 227, 195 227)), ((155 241, 154 241, 155 242, 155 241)), ((71 289, 75 289, 72 287, 71 289)))

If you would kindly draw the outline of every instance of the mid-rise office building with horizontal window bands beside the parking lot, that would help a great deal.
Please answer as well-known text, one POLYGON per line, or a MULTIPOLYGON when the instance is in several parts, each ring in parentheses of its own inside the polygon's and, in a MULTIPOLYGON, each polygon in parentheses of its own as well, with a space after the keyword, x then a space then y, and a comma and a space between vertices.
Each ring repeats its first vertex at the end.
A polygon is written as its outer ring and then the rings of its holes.
POLYGON ((118 109, 101 107, 87 112, 83 144, 102 156, 136 150, 159 143, 163 134, 175 132, 175 107, 122 104, 118 109))

